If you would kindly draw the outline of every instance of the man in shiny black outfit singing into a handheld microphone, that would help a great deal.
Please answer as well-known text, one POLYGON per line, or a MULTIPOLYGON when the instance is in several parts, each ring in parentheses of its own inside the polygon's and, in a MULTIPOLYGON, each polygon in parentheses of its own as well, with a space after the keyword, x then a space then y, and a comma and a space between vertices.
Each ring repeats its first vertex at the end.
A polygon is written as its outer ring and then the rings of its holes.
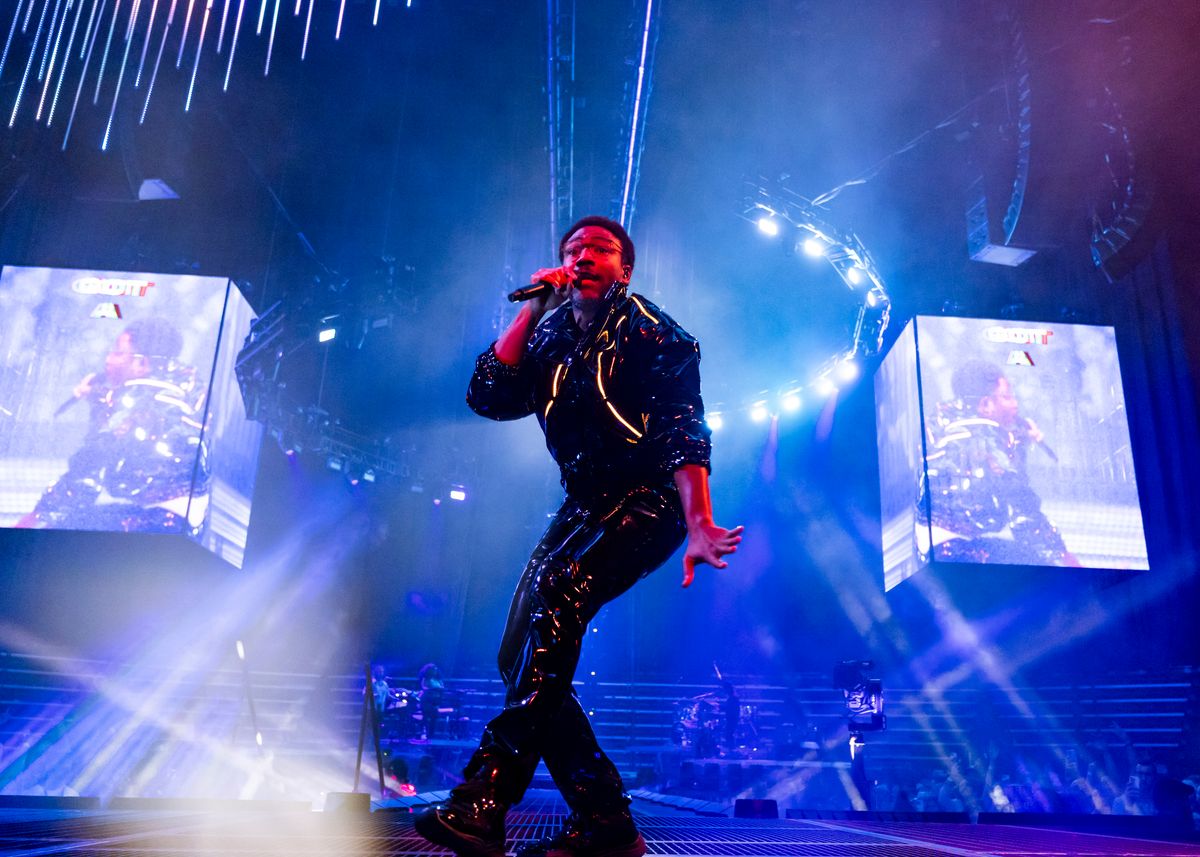
POLYGON ((566 497, 517 583, 500 641, 504 711, 445 805, 416 829, 457 855, 500 857, 504 815, 546 762, 571 814, 530 849, 550 857, 641 857, 616 766, 596 743, 571 681, 588 623, 686 538, 683 585, 697 563, 725 568, 742 527, 713 522, 700 349, 644 298, 626 292, 634 244, 606 217, 559 242, 527 301, 481 354, 467 402, 496 420, 536 414, 566 497), (542 320, 547 312, 556 310, 542 320))

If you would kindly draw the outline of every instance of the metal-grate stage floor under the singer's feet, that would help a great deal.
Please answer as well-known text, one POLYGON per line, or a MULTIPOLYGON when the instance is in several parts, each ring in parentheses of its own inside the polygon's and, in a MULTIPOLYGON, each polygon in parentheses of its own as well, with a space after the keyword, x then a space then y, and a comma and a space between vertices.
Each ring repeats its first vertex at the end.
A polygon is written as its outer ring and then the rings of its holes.
MULTIPOLYGON (((1069 833, 1044 828, 926 822, 859 822, 700 817, 635 802, 650 855, 714 857, 1049 857, 1068 855, 1196 855, 1200 844, 1069 833)), ((510 814, 515 850, 552 832, 563 819, 557 796, 532 795, 510 814)), ((0 810, 0 852, 97 857, 192 857, 238 855, 437 855, 413 832, 404 809, 370 815, 240 809, 0 810)))

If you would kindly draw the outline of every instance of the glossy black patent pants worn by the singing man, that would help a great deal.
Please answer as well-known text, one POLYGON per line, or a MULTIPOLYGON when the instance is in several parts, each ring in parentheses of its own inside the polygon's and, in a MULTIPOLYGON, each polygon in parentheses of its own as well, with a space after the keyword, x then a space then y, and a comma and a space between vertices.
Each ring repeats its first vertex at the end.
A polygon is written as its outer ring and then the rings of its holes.
POLYGON ((506 696, 464 772, 516 803, 542 759, 576 813, 623 810, 616 766, 571 687, 588 623, 656 569, 686 534, 673 485, 638 487, 596 511, 568 498, 526 565, 498 663, 506 696))

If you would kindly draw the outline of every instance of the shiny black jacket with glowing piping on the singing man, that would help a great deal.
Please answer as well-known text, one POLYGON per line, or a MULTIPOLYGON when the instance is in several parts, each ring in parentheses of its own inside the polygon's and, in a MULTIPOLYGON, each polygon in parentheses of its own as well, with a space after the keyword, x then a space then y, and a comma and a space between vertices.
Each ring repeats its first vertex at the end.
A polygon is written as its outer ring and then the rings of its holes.
POLYGON ((700 346, 622 283, 587 332, 563 305, 538 325, 518 366, 493 348, 480 354, 467 403, 494 420, 536 414, 576 499, 668 485, 684 465, 709 467, 700 346))

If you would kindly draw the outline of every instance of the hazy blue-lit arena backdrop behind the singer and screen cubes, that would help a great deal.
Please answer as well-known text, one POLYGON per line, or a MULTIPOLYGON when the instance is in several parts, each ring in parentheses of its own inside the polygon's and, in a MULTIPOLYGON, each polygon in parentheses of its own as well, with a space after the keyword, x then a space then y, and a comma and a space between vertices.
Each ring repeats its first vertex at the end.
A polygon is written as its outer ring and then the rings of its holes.
MULTIPOLYGON (((643 11, 578 8, 576 214, 617 210, 643 11)), ((462 398, 474 355, 511 317, 504 293, 553 262, 545 13, 418 0, 384 4, 372 29, 370 6, 352 2, 335 41, 332 7, 318 8, 300 62, 302 16, 286 8, 264 77, 265 31, 252 37, 247 10, 229 91, 224 61, 206 55, 186 114, 188 62, 164 65, 144 125, 138 98, 119 104, 108 151, 104 97, 80 106, 65 151, 58 119, 0 130, 5 264, 229 275, 259 311, 284 299, 319 314, 390 289, 392 326, 328 358, 313 343, 289 383, 313 401, 319 390, 344 426, 391 438, 407 462, 403 478, 350 486, 268 441, 241 571, 162 538, 0 533, 0 648, 122 658, 221 617, 263 669, 491 669, 558 497, 533 422, 486 422, 462 398), (181 199, 134 202, 149 176, 181 199), (452 484, 466 502, 446 499, 452 484)), ((658 36, 635 289, 702 343, 706 400, 726 413, 714 507, 746 538, 728 570, 703 569, 690 591, 672 561, 607 609, 586 669, 704 681, 713 661, 780 676, 862 657, 889 673, 965 667, 991 681, 996 663, 1006 675, 1198 663, 1200 8, 667 0, 658 36), (973 169, 997 221, 1012 186, 1010 14, 1033 108, 1014 242, 1038 251, 1015 269, 971 262, 965 220, 973 169), (1114 198, 1110 102, 1151 204, 1105 275, 1088 236, 1114 198), (739 218, 756 176, 806 197, 868 176, 828 218, 876 259, 889 341, 947 304, 1115 325, 1151 571, 950 569, 884 598, 869 378, 774 427, 740 410, 845 347, 853 311, 827 265, 739 218)), ((6 109, 16 74, 0 76, 6 109)))

